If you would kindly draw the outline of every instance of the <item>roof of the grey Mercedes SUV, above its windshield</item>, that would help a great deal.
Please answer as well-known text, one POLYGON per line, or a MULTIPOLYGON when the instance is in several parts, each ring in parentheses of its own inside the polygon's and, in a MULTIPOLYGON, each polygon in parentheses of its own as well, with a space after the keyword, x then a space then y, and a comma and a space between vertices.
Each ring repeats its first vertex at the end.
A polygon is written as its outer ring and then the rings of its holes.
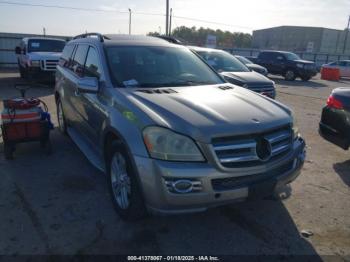
MULTIPOLYGON (((171 44, 166 40, 160 39, 158 37, 143 36, 143 35, 104 35, 103 44, 105 46, 117 46, 117 45, 128 45, 128 46, 178 46, 171 44)), ((100 42, 98 37, 85 37, 73 39, 71 42, 79 43, 96 43, 100 42)))

